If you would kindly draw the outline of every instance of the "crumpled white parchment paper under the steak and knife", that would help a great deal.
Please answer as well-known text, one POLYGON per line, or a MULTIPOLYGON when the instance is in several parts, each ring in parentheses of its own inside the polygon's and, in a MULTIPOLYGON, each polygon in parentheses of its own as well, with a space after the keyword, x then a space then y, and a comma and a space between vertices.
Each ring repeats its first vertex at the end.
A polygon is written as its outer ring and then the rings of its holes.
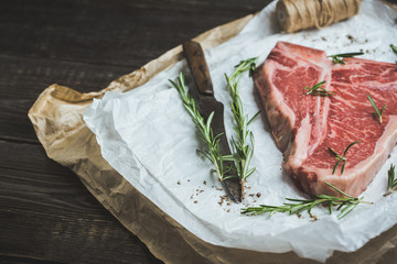
MULTIPOLYGON (((265 8, 233 40, 206 52, 216 98, 225 105, 227 135, 233 132, 230 97, 224 73, 248 57, 264 62, 277 41, 288 41, 326 51, 328 54, 364 51, 364 58, 394 63, 397 55, 389 44, 397 41, 397 14, 378 1, 363 1, 358 15, 323 29, 296 34, 276 34, 276 2, 265 8)), ((258 64, 259 64, 258 63, 258 64)), ((383 197, 387 169, 397 163, 397 152, 387 161, 368 189, 365 200, 347 217, 314 209, 318 220, 276 213, 247 217, 240 209, 254 205, 281 205, 286 197, 305 197, 281 168, 282 155, 275 145, 264 117, 250 125, 255 134, 253 166, 243 205, 221 204, 222 185, 211 174, 212 165, 196 153, 203 148, 196 129, 168 79, 183 72, 192 87, 186 63, 180 62, 131 91, 108 92, 94 100, 84 116, 96 134, 103 156, 142 195, 202 240, 223 246, 282 253, 324 262, 334 250, 352 252, 369 239, 397 223, 395 196, 383 197)), ((244 76, 239 90, 245 111, 251 117, 260 110, 253 80, 244 76)))

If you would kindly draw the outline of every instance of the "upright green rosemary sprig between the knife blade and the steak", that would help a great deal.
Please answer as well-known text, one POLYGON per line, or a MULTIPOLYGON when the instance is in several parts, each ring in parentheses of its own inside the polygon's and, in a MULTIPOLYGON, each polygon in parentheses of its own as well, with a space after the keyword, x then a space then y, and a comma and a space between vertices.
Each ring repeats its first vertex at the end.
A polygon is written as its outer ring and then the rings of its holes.
POLYGON ((256 68, 257 57, 242 61, 235 66, 230 76, 225 74, 227 85, 232 96, 232 112, 234 116, 234 131, 237 139, 232 138, 232 144, 236 151, 235 163, 237 169, 237 176, 242 182, 242 193, 244 195, 244 183, 248 176, 255 172, 255 167, 250 168, 250 161, 254 155, 254 134, 248 129, 250 122, 259 114, 257 112, 253 118, 248 118, 244 113, 243 102, 238 94, 238 81, 245 72, 249 72, 249 76, 253 75, 256 68))

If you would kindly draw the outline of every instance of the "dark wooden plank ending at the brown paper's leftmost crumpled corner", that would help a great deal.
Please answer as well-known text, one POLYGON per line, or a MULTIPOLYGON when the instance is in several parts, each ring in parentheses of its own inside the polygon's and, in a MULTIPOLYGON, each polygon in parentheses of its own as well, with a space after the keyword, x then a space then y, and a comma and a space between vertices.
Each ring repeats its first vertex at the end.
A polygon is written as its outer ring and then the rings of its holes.
POLYGON ((129 67, 0 55, 0 139, 37 143, 28 111, 50 85, 82 92, 99 90, 129 67))

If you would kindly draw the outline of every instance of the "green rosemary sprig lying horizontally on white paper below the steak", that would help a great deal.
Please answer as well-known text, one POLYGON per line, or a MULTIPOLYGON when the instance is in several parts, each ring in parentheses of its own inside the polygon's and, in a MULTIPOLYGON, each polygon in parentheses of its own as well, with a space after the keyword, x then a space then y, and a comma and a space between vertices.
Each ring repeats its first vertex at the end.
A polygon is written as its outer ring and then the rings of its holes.
POLYGON ((329 196, 329 195, 315 195, 313 199, 292 199, 292 198, 286 198, 288 201, 292 202, 285 202, 282 206, 267 206, 267 205, 260 205, 259 207, 248 207, 242 209, 242 213, 255 216, 260 213, 269 213, 269 217, 275 215, 276 212, 287 212, 289 215, 299 213, 302 211, 308 211, 310 216, 311 210, 320 205, 326 205, 329 208, 330 215, 333 212, 333 208, 336 207, 336 210, 341 210, 341 212, 337 216, 337 219, 344 218, 347 213, 350 213, 357 205, 360 204, 368 204, 372 205, 372 202, 364 201, 364 197, 356 198, 353 196, 350 196, 345 194, 344 191, 340 190, 335 186, 331 185, 328 182, 324 182, 328 186, 336 190, 337 193, 345 196, 345 198, 335 197, 335 196, 329 196))

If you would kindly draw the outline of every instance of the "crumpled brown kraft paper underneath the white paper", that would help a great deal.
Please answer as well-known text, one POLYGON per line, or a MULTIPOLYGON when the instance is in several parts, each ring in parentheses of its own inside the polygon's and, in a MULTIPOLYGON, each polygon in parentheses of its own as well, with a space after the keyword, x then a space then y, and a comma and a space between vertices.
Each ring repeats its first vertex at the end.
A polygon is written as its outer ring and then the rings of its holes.
MULTIPOLYGON (((215 28, 195 40, 204 48, 214 47, 236 35, 251 18, 215 28)), ((97 92, 81 94, 58 85, 46 88, 29 117, 49 157, 73 169, 99 202, 165 263, 315 263, 292 252, 260 253, 206 243, 162 212, 101 157, 95 135, 83 121, 92 99, 108 90, 141 86, 181 58, 182 48, 178 46, 97 92)), ((393 263, 396 245, 394 227, 357 252, 335 252, 326 263, 393 263)))

